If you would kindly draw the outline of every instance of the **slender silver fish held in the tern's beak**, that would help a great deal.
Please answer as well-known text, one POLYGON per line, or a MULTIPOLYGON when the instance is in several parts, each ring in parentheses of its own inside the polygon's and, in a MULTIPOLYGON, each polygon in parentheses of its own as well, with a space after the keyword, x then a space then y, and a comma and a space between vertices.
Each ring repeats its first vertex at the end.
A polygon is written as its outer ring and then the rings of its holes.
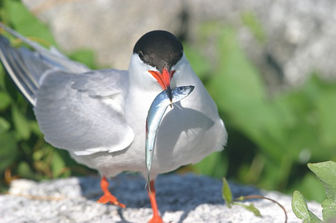
POLYGON ((166 90, 163 90, 152 102, 151 107, 149 108, 147 119, 146 119, 146 166, 147 166, 147 182, 146 186, 150 191, 150 171, 154 155, 155 141, 157 137, 157 132, 159 125, 161 123, 162 117, 167 110, 168 106, 171 106, 172 103, 176 103, 186 96, 190 95, 194 90, 195 86, 180 86, 172 88, 172 101, 170 101, 166 90))

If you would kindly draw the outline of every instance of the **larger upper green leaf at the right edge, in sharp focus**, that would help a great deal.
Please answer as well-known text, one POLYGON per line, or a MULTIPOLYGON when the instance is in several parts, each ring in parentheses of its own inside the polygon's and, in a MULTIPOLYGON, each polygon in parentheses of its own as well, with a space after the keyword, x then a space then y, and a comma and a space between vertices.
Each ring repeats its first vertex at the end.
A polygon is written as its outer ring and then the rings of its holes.
POLYGON ((322 182, 327 198, 336 203, 336 162, 308 163, 307 166, 322 182))

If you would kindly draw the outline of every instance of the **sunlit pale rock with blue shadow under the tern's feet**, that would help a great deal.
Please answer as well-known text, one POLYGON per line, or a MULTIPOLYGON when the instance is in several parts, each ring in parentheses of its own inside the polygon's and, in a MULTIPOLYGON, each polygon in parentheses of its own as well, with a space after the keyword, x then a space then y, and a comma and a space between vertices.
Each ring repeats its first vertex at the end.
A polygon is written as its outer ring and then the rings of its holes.
MULTIPOLYGON (((44 182, 12 181, 9 194, 0 195, 0 223, 144 223, 152 214, 139 175, 119 175, 110 180, 113 194, 127 205, 98 204, 102 195, 98 176, 70 177, 44 182)), ((235 197, 261 193, 281 203, 288 223, 301 223, 291 210, 290 196, 230 184, 235 197)), ((242 207, 229 209, 221 198, 219 180, 195 175, 160 175, 157 200, 163 220, 170 223, 283 223, 283 210, 266 200, 253 203, 263 215, 255 217, 242 207)), ((310 209, 321 215, 316 203, 310 209)))

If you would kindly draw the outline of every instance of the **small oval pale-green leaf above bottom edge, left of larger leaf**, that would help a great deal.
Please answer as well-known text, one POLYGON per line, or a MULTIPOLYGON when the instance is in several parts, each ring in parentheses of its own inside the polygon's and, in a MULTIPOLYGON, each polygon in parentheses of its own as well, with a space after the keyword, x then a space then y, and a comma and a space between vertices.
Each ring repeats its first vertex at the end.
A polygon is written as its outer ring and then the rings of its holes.
POLYGON ((307 203, 299 191, 293 193, 292 209, 296 217, 302 220, 307 220, 309 223, 322 223, 322 220, 308 209, 307 203))

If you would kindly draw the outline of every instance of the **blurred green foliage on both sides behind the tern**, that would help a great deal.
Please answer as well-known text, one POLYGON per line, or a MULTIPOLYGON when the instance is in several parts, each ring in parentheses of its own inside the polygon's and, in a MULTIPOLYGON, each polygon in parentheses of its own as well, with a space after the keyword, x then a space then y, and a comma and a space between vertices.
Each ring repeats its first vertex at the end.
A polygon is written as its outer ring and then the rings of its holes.
MULTIPOLYGON (((26 36, 57 47, 52 34, 18 0, 0 2, 0 20, 26 36)), ((243 23, 260 44, 267 37, 250 12, 243 23)), ((336 161, 336 82, 310 74, 301 87, 270 96, 265 82, 237 41, 236 30, 211 22, 200 25, 199 35, 215 36, 216 60, 199 52, 202 46, 184 43, 196 74, 215 100, 229 132, 229 142, 214 153, 178 173, 195 172, 243 184, 292 193, 322 201, 323 187, 307 162, 336 161), (214 32, 215 31, 215 32, 214 32)), ((90 50, 68 55, 97 67, 90 50)), ((31 106, 0 66, 0 189, 17 177, 34 180, 88 175, 96 172, 76 164, 67 151, 45 143, 31 106)))

